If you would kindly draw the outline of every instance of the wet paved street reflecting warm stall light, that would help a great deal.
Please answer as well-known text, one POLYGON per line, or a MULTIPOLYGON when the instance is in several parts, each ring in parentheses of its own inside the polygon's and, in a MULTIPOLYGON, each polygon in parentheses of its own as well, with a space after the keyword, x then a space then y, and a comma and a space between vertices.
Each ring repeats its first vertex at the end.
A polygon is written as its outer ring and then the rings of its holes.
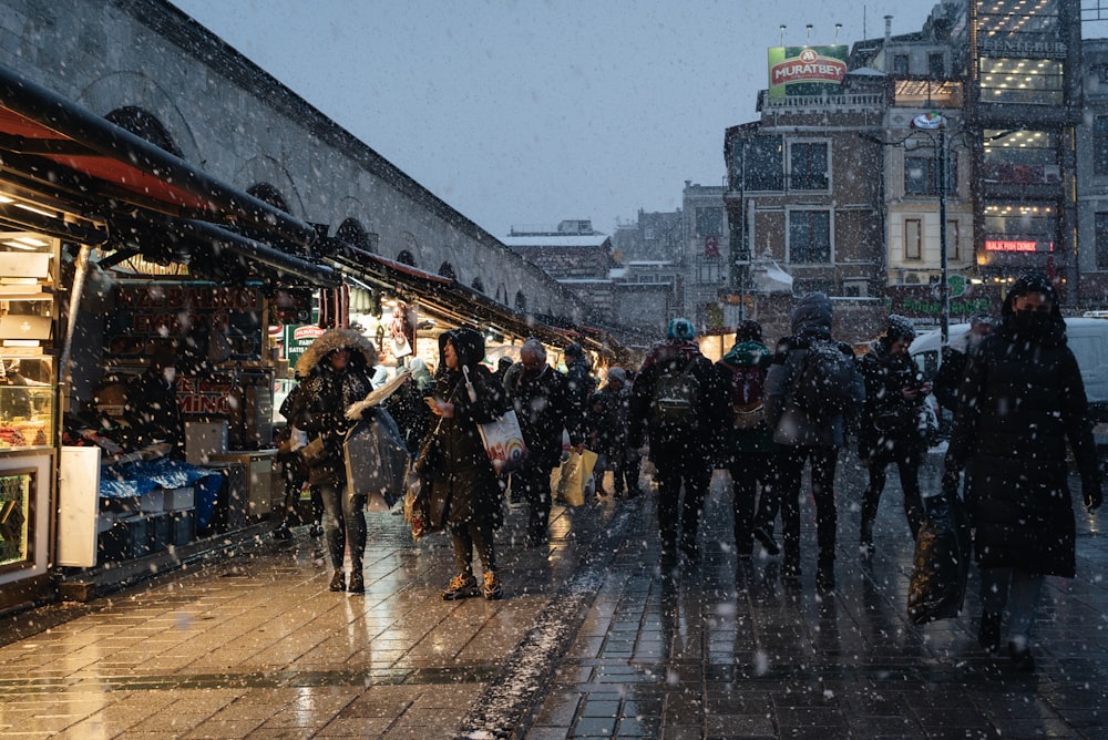
POLYGON ((301 528, 91 605, 9 617, 0 736, 1108 738, 1096 520, 1078 514, 1078 575, 1047 580, 1036 671, 1023 674, 976 645, 975 571, 960 618, 909 621, 899 487, 863 563, 864 472, 844 455, 839 477, 831 596, 815 590, 811 507, 803 575, 782 582, 779 557, 736 557, 719 473, 696 565, 660 567, 653 494, 555 506, 542 549, 523 546, 526 510, 512 510, 501 602, 442 602, 445 537, 412 544, 401 517, 370 514, 365 595, 327 590, 320 543, 301 528))

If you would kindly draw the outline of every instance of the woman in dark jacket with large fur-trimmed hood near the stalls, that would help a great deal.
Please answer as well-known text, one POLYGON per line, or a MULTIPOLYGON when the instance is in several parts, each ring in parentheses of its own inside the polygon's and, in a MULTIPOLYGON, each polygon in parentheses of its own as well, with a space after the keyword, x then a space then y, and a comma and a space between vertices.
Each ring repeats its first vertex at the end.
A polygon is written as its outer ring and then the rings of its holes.
MULTIPOLYGON (((322 451, 308 460, 308 481, 319 489, 324 503, 324 538, 334 574, 330 590, 360 594, 366 590, 362 555, 366 551, 365 493, 347 489, 342 443, 356 420, 347 408, 362 401, 373 386, 377 362, 373 345, 358 331, 332 328, 316 338, 296 362, 301 390, 289 423, 305 431, 309 445, 319 440, 322 451), (350 551, 350 579, 343 572, 345 552, 350 551)), ((365 413, 384 413, 370 407, 365 413)))

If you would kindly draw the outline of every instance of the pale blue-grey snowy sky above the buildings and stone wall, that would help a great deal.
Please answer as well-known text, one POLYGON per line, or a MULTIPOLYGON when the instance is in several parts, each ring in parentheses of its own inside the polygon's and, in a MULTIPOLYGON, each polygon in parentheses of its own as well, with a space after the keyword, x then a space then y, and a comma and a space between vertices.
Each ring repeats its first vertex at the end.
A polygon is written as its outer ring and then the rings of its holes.
POLYGON ((755 120, 782 24, 784 45, 850 45, 934 4, 172 2, 497 237, 679 208, 686 179, 722 184, 724 131, 755 120))

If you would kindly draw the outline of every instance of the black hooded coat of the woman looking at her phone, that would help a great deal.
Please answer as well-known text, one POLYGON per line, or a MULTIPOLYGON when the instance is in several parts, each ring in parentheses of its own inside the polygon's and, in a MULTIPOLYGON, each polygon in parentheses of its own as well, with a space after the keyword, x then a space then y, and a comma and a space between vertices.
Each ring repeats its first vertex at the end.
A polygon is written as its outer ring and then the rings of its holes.
POLYGON ((481 364, 484 353, 484 337, 475 329, 462 327, 439 335, 439 370, 432 394, 441 402, 452 403, 454 412, 449 419, 432 420, 431 434, 441 451, 438 474, 431 480, 432 517, 442 516, 442 521, 431 522, 435 528, 469 521, 491 521, 499 527, 503 522, 500 483, 478 424, 499 419, 507 411, 507 402, 503 388, 481 364), (458 354, 458 370, 447 368, 443 350, 448 340, 458 354), (462 367, 469 369, 476 400, 470 399, 462 367))

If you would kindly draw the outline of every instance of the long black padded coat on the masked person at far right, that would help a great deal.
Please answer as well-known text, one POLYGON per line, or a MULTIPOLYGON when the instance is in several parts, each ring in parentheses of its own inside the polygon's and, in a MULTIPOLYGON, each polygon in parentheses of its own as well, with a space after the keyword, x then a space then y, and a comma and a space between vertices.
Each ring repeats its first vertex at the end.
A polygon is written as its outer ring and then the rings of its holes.
POLYGON ((1100 485, 1085 386, 1054 307, 1044 336, 1005 325, 971 356, 958 390, 946 467, 973 460, 978 499, 975 549, 982 567, 1069 577, 1075 522, 1066 440, 1084 485, 1100 485))

